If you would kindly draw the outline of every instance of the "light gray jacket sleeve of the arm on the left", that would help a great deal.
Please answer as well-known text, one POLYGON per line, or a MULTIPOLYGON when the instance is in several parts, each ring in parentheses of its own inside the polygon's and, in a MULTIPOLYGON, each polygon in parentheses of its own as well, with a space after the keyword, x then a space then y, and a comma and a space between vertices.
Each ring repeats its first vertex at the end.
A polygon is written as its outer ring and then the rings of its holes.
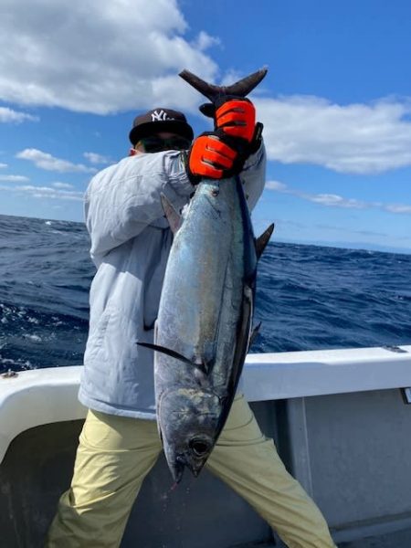
POLYGON ((176 152, 132 156, 95 175, 85 195, 91 258, 99 263, 145 227, 165 227, 161 193, 179 209, 193 191, 176 152))

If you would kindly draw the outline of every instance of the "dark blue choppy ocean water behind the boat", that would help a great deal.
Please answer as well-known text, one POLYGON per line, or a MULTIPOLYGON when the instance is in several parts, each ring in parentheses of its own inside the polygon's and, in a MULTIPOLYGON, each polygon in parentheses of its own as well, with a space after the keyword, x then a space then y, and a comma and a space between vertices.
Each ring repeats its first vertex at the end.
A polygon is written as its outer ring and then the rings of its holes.
MULTIPOLYGON (((84 225, 0 216, 0 373, 82 363, 95 273, 84 225)), ((411 344, 411 255, 270 243, 252 352, 411 344)))

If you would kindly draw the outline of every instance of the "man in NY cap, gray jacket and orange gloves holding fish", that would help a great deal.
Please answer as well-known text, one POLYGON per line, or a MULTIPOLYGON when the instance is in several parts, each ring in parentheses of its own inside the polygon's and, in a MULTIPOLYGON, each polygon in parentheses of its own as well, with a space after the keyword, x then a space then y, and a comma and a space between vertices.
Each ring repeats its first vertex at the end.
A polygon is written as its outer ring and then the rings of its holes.
MULTIPOLYGON (((193 130, 181 112, 155 109, 138 116, 130 132, 130 156, 90 182, 85 210, 97 273, 90 289, 90 332, 79 390, 89 413, 48 548, 119 546, 142 480, 162 449, 155 422, 153 352, 137 345, 153 342, 172 245, 161 193, 181 209, 202 177, 229 174, 240 174, 250 208, 262 193, 265 152, 253 104, 234 98, 214 115, 215 130, 192 145, 193 130)), ((320 511, 290 477, 240 394, 206 466, 290 548, 334 546, 320 511)))

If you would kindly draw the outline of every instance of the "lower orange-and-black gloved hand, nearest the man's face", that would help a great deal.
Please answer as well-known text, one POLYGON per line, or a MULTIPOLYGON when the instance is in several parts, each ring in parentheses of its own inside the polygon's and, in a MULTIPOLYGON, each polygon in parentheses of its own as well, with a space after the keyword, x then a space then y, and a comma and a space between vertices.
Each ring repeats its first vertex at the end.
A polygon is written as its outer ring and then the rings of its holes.
POLYGON ((245 158, 237 139, 222 130, 204 132, 192 144, 188 153, 187 174, 193 184, 202 178, 224 179, 239 174, 245 158))

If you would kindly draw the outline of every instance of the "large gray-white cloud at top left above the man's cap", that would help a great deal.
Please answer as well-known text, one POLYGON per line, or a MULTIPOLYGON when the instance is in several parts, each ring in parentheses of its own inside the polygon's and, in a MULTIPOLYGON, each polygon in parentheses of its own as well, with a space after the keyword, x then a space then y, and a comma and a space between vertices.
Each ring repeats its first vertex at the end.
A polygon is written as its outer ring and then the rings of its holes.
POLYGON ((3 0, 2 14, 2 100, 101 114, 194 109, 198 94, 176 74, 216 77, 204 51, 216 38, 186 39, 177 0, 3 0))

